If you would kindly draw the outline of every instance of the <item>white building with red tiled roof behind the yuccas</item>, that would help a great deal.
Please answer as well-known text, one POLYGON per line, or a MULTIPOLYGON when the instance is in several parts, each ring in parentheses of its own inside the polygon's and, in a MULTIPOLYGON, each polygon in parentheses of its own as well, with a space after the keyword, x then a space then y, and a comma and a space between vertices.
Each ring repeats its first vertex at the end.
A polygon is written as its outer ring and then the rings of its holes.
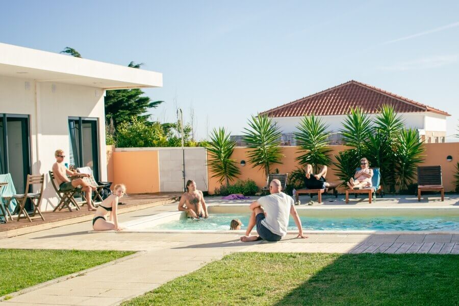
POLYGON ((289 134, 297 131, 296 126, 304 115, 320 116, 330 133, 338 133, 351 107, 362 108, 372 118, 385 104, 394 107, 406 127, 418 130, 421 141, 445 142, 446 117, 450 114, 353 80, 260 114, 272 117, 288 139, 289 134))

